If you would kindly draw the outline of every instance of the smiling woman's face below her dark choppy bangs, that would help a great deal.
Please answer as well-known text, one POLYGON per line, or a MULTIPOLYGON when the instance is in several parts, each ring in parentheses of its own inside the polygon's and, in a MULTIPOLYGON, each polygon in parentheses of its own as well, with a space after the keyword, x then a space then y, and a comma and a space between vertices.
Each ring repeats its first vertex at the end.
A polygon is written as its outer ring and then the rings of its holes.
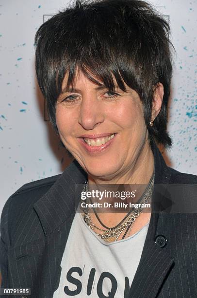
MULTIPOLYGON (((63 90, 66 79, 63 82, 63 90)), ((60 137, 91 176, 110 180, 124 175, 148 146, 148 131, 138 94, 128 87, 109 92, 82 73, 74 90, 63 92, 56 104, 60 137)))

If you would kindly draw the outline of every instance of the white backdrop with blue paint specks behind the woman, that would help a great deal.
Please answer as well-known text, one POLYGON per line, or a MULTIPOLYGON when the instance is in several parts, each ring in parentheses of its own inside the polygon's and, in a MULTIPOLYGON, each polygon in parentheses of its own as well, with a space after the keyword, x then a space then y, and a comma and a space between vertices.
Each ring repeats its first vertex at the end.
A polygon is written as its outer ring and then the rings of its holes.
MULTIPOLYGON (((44 121, 43 98, 34 75, 33 39, 43 15, 66 0, 0 1, 0 213, 20 186, 63 171, 68 164, 58 138, 44 121)), ((152 0, 169 15, 177 51, 168 130, 168 164, 197 174, 197 1, 152 0)))

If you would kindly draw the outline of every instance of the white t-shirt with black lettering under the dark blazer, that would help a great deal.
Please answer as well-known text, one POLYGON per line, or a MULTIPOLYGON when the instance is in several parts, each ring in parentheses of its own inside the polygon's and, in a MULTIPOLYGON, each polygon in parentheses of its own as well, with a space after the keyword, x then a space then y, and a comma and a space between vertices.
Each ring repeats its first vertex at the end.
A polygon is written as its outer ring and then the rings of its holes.
POLYGON ((105 242, 76 213, 53 298, 125 298, 137 270, 148 225, 129 238, 105 242))

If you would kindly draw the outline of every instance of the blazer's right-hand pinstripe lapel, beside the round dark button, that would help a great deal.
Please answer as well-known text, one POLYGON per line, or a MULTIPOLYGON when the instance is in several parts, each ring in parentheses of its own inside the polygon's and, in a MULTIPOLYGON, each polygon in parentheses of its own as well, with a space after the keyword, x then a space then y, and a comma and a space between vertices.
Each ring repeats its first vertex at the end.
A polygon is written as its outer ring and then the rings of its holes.
MULTIPOLYGON (((166 206, 165 190, 169 183, 170 172, 164 163, 159 149, 155 145, 153 145, 153 152, 155 160, 155 187, 153 191, 152 214, 142 256, 131 284, 129 292, 129 297, 131 298, 157 297, 164 278, 174 264, 174 258, 170 256, 167 242, 169 238, 167 225, 164 224, 164 210, 161 210, 161 207, 166 206), (164 241, 164 243, 158 242, 159 240, 164 241)), ((166 208, 169 205, 170 202, 167 203, 166 208)))

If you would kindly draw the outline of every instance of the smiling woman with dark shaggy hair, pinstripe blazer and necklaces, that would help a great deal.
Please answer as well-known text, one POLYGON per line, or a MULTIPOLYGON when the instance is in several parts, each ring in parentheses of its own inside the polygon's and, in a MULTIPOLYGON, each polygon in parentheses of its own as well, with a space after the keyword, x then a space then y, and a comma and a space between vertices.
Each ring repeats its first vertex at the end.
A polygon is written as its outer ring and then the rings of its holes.
POLYGON ((77 1, 39 28, 35 44, 49 118, 75 161, 7 201, 2 287, 35 298, 196 297, 197 216, 172 206, 195 199, 197 177, 168 168, 156 145, 171 146, 167 22, 144 1, 77 1), (192 191, 172 202, 171 184, 192 191), (115 198, 106 212, 82 205, 82 191, 103 185, 135 185, 131 202, 151 201, 151 212, 113 212, 115 198))

